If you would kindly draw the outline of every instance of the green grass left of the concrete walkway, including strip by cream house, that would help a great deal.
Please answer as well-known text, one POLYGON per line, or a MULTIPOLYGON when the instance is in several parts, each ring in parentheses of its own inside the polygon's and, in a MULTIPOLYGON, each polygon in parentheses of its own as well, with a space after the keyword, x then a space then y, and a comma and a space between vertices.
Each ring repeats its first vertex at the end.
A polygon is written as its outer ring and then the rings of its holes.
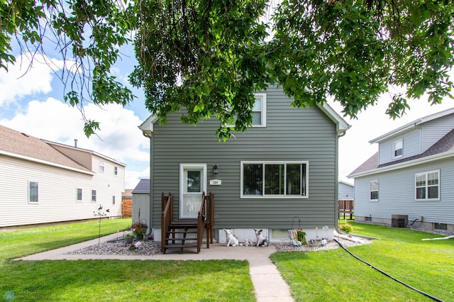
MULTIPOLYGON (((101 234, 131 219, 102 220, 101 234)), ((98 222, 0 233, 0 296, 11 301, 255 301, 245 261, 11 259, 98 236, 98 222)))

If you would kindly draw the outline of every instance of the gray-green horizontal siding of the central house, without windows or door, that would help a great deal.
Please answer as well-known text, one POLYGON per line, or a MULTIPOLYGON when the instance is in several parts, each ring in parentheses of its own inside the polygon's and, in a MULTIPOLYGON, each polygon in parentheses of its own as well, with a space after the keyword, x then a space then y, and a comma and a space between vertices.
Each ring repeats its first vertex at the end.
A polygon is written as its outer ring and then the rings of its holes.
POLYGON ((336 223, 336 125, 319 108, 292 108, 282 89, 266 93, 267 124, 235 133, 219 142, 216 118, 199 125, 182 124, 179 114, 154 124, 152 135, 153 227, 160 228, 160 196, 174 194, 178 216, 179 164, 207 164, 215 196, 216 228, 287 229, 298 216, 303 228, 336 223), (240 162, 307 162, 308 188, 304 198, 241 198, 240 162), (219 174, 213 174, 213 165, 219 174))

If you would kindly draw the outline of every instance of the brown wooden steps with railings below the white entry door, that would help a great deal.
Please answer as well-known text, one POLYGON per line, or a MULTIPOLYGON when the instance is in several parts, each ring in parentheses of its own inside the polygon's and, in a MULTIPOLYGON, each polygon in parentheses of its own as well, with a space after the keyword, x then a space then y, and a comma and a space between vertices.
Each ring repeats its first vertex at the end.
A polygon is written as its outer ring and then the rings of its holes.
POLYGON ((195 248, 199 253, 201 242, 206 230, 206 248, 213 243, 214 196, 202 194, 202 202, 197 220, 173 219, 173 196, 169 193, 161 196, 161 250, 177 249, 180 253, 184 248, 195 248))

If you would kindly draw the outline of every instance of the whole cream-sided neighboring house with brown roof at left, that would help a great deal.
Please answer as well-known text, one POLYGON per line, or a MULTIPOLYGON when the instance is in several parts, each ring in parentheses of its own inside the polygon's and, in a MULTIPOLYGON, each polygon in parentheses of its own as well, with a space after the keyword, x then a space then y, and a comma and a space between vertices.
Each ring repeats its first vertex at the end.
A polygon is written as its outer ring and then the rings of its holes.
POLYGON ((121 216, 125 167, 0 125, 0 227, 121 216))

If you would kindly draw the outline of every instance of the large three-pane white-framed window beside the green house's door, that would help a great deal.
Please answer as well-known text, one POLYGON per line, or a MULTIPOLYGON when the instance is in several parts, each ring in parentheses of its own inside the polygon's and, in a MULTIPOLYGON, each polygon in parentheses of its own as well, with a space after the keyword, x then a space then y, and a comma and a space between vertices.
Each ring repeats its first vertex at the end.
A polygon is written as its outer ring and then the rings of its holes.
POLYGON ((241 162, 242 197, 306 197, 308 162, 241 162))

